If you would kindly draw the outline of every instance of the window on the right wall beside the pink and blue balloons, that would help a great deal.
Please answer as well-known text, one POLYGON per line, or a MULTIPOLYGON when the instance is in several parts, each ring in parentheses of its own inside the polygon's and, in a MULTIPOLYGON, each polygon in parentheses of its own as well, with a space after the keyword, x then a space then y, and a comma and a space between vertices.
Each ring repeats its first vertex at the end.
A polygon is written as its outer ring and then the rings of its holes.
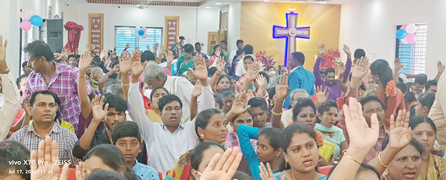
MULTIPOLYGON (((397 27, 400 28, 401 25, 397 27)), ((403 44, 397 39, 396 57, 399 57, 401 64, 406 64, 401 73, 414 75, 426 73, 427 23, 416 24, 415 36, 414 44, 403 44)))

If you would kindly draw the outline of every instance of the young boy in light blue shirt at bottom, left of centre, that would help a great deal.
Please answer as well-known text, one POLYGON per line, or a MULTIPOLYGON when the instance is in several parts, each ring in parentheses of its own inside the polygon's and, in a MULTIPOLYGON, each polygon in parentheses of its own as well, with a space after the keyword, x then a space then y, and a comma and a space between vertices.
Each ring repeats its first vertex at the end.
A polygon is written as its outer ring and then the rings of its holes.
POLYGON ((142 180, 159 179, 159 173, 154 168, 146 166, 137 161, 138 153, 141 152, 143 144, 137 123, 131 121, 121 122, 112 131, 113 144, 117 146, 124 155, 126 166, 131 167, 134 174, 142 180))

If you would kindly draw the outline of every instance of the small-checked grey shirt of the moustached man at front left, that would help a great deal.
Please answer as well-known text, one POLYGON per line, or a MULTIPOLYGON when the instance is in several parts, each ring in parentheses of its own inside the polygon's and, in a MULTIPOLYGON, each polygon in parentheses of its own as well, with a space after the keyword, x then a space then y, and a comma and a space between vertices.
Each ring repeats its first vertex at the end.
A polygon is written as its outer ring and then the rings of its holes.
MULTIPOLYGON (((45 140, 45 137, 51 137, 51 140, 56 140, 58 142, 58 153, 59 160, 70 161, 70 167, 73 167, 79 162, 80 159, 75 158, 71 150, 73 150, 74 144, 78 141, 73 131, 61 127, 58 123, 54 123, 51 131, 45 136, 39 136, 36 131, 34 131, 34 123, 22 127, 19 131, 12 134, 9 140, 15 140, 21 142, 23 145, 30 149, 30 151, 38 151, 38 143, 40 140, 45 140)), ((67 162, 68 163, 68 162, 67 162)))

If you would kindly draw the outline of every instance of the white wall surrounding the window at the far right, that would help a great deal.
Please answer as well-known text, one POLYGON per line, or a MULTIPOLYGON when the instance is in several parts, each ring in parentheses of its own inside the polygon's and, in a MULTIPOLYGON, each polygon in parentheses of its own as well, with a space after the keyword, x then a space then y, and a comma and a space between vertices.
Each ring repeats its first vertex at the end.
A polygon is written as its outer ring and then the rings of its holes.
MULTIPOLYGON (((443 0, 367 0, 341 5, 340 47, 362 48, 373 61, 395 60, 397 25, 427 23, 426 74, 434 79, 436 62, 446 64, 446 1, 443 0)), ((342 50, 341 50, 342 51, 342 50)), ((344 53, 341 53, 345 59, 344 53)))

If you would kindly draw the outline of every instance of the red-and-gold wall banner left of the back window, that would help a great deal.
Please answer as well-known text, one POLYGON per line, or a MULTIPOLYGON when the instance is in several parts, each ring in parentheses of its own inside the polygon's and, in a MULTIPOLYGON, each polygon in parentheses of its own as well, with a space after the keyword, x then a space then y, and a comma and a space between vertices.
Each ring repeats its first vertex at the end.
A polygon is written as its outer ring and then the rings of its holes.
POLYGON ((95 54, 102 51, 104 40, 104 14, 89 13, 89 43, 95 44, 95 54))

